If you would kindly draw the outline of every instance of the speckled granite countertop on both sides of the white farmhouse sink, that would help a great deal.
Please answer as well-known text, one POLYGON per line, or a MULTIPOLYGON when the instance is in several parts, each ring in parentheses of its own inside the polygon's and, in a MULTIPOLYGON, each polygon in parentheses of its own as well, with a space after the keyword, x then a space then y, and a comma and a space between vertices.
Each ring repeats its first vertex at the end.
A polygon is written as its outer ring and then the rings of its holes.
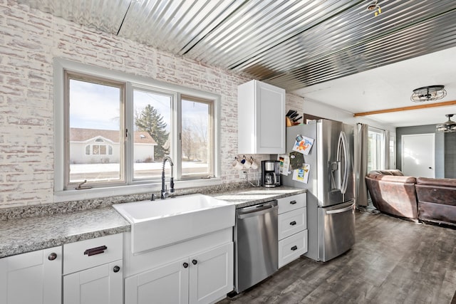
MULTIPOLYGON (((305 189, 291 187, 258 187, 204 194, 229 201, 235 204, 236 208, 242 208, 305 192, 305 189)), ((0 221, 0 258, 99 236, 118 234, 130 231, 130 229, 130 223, 112 206, 8 219, 0 221)))

